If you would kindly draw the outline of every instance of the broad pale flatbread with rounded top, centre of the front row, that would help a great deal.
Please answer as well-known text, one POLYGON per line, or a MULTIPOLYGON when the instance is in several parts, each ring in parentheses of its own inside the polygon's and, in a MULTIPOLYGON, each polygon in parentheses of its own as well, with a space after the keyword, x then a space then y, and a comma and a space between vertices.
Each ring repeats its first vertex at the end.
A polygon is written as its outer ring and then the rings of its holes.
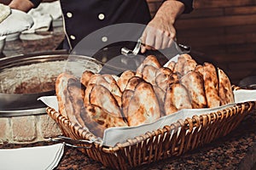
POLYGON ((160 117, 160 106, 152 85, 140 82, 128 106, 127 121, 129 126, 154 122, 160 117))

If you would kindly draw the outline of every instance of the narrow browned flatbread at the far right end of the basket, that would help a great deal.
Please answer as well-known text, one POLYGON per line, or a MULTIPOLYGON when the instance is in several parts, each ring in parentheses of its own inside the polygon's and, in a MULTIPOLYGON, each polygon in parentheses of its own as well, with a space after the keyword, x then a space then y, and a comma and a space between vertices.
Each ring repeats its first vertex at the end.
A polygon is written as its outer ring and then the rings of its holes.
POLYGON ((234 94, 230 83, 230 78, 224 73, 223 70, 218 68, 218 86, 219 86, 219 98, 220 104, 226 105, 234 103, 234 94))

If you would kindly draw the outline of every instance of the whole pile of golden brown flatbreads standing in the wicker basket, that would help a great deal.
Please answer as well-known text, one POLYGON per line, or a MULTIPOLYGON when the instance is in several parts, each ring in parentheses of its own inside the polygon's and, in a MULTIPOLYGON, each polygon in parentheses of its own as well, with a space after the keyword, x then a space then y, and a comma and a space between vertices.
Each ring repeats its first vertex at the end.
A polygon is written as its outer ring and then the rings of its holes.
POLYGON ((55 88, 60 113, 98 137, 108 127, 137 126, 182 109, 234 102, 224 71, 210 63, 198 65, 189 54, 165 67, 149 55, 137 71, 124 71, 119 77, 62 73, 55 88))

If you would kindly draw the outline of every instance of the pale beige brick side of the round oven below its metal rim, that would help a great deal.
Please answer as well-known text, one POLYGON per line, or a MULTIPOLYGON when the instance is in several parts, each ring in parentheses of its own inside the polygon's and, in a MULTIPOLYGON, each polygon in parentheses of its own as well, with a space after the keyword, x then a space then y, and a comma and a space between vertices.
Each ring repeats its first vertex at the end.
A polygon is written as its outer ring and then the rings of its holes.
POLYGON ((0 117, 0 144, 26 144, 62 135, 60 127, 46 113, 37 116, 0 117))

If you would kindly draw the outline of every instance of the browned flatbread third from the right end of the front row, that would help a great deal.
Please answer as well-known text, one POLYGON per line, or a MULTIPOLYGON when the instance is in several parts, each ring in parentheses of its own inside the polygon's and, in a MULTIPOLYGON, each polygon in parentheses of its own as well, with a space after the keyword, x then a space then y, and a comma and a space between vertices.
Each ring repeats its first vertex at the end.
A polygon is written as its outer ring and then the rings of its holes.
POLYGON ((201 73, 197 71, 190 71, 183 76, 180 81, 189 91, 189 97, 191 99, 193 109, 207 107, 207 97, 201 73))

